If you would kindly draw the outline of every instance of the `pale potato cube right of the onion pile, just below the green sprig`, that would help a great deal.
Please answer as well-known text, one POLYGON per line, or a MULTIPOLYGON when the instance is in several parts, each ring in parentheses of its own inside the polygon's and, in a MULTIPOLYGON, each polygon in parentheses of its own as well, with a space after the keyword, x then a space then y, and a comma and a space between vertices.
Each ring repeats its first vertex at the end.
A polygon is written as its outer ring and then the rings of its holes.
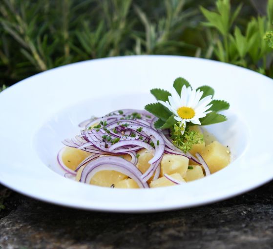
POLYGON ((182 177, 186 175, 189 166, 189 158, 180 155, 164 154, 161 161, 160 175, 179 173, 182 177))

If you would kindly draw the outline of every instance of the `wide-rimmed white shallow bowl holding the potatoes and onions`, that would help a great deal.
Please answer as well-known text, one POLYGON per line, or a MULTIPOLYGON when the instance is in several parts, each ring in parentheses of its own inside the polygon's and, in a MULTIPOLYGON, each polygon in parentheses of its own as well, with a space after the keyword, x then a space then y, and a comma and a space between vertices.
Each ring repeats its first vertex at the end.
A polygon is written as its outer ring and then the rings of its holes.
POLYGON ((129 56, 74 63, 27 78, 0 93, 0 183, 67 207, 117 212, 161 211, 227 199, 273 179, 273 80, 231 64, 179 56, 129 56), (58 171, 64 138, 92 115, 143 109, 149 90, 177 77, 208 84, 231 104, 229 121, 207 129, 229 145, 232 163, 174 187, 113 189, 72 181, 58 171))

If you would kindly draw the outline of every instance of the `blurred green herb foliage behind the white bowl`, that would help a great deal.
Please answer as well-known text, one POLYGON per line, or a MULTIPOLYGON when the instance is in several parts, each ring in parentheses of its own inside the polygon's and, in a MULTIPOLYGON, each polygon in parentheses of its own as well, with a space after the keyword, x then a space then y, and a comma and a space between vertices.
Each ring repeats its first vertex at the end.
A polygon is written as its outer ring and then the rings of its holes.
POLYGON ((2 0, 0 91, 56 66, 134 54, 203 57, 273 77, 273 0, 267 11, 263 3, 2 0))

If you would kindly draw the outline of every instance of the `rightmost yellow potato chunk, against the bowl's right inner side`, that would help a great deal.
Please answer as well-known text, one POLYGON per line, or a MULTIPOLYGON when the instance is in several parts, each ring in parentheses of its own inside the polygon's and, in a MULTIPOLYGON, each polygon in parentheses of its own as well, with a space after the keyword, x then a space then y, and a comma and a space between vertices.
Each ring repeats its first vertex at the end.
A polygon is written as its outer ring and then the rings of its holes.
POLYGON ((229 148, 221 145, 217 141, 207 145, 201 155, 208 164, 211 173, 226 167, 231 161, 229 148))

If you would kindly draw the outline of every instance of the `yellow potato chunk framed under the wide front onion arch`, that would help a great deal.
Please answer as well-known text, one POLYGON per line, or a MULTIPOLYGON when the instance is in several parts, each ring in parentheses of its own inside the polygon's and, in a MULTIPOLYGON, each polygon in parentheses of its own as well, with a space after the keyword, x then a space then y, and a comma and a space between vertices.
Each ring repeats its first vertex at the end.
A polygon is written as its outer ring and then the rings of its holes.
POLYGON ((127 176, 114 170, 102 170, 97 172, 91 179, 90 184, 102 186, 102 187, 111 187, 113 184, 116 184, 126 179, 127 176))

